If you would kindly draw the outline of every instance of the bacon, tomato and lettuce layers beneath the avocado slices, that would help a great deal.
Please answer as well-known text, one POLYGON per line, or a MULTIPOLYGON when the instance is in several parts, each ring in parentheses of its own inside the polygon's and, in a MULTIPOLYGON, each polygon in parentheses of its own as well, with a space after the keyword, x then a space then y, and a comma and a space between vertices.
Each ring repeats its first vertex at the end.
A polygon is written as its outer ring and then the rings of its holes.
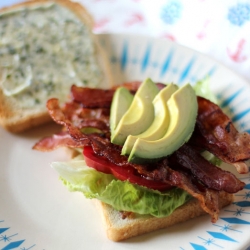
MULTIPOLYGON (((134 94, 139 85, 132 83, 123 86, 134 94)), ((158 84, 158 87, 162 88, 163 85, 158 84)), ((186 143, 154 163, 129 162, 128 157, 122 155, 122 146, 110 141, 109 115, 114 92, 115 89, 72 86, 72 100, 64 106, 61 107, 57 99, 50 99, 47 109, 54 121, 65 129, 42 139, 34 149, 48 151, 66 146, 83 151, 81 157, 85 157, 85 161, 62 163, 63 167, 55 163, 54 167, 59 169, 70 190, 82 191, 86 197, 98 198, 118 210, 167 216, 194 197, 203 210, 211 215, 211 221, 215 222, 219 213, 219 193, 236 193, 244 188, 245 183, 214 163, 222 160, 234 165, 239 173, 246 173, 248 167, 245 161, 250 159, 250 135, 238 132, 218 105, 197 96, 195 128, 186 143), (220 160, 209 161, 204 158, 204 152, 210 152, 208 154, 212 154, 212 159, 220 160), (91 168, 86 168, 86 163, 91 168), (87 175, 84 175, 84 171, 87 171, 87 175), (92 178, 89 172, 106 177, 92 178), (142 181, 133 183, 136 177, 142 181), (155 183, 158 186, 154 186, 155 183), (129 185, 132 185, 131 188, 128 188, 129 185), (134 188, 136 191, 132 192, 134 188)))

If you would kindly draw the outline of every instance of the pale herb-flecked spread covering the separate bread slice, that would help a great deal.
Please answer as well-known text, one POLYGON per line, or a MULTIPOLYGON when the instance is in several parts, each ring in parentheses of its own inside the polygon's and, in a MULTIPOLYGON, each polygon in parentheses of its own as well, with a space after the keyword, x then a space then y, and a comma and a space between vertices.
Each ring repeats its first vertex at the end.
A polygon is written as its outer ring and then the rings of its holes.
POLYGON ((73 82, 100 85, 103 75, 86 35, 89 28, 61 5, 3 13, 0 32, 1 85, 5 95, 20 100, 23 107, 44 105, 57 89, 66 96, 73 82))

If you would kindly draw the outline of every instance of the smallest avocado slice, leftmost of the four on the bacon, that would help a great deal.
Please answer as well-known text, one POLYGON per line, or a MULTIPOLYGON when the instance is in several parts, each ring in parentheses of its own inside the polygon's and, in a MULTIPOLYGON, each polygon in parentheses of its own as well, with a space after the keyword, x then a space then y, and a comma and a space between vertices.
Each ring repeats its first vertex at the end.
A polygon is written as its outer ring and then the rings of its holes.
POLYGON ((115 128, 117 127, 122 116, 129 109, 134 96, 130 91, 124 87, 119 87, 113 96, 111 107, 110 107, 110 130, 111 134, 114 133, 115 128))

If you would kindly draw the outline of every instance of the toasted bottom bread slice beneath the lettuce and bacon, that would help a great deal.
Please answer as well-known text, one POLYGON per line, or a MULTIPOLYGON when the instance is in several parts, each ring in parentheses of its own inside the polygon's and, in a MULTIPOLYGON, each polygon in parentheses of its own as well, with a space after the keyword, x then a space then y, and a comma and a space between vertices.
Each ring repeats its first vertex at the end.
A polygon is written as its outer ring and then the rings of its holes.
MULTIPOLYGON (((233 195, 222 192, 219 198, 220 208, 233 202, 233 195)), ((180 222, 206 214, 196 199, 177 208, 171 215, 164 218, 134 215, 122 218, 122 213, 114 210, 110 205, 99 202, 103 220, 106 225, 107 236, 113 241, 122 241, 134 236, 170 227, 180 222)))

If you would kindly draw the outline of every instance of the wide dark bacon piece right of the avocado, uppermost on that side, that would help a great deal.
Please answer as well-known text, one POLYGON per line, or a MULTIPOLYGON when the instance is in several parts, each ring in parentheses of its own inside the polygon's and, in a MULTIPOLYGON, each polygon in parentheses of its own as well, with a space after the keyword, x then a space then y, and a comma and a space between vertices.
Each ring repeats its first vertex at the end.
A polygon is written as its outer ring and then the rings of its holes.
POLYGON ((239 133, 229 117, 218 105, 198 97, 198 117, 190 142, 208 150, 222 161, 240 166, 240 173, 247 173, 244 161, 250 158, 250 134, 239 133))

